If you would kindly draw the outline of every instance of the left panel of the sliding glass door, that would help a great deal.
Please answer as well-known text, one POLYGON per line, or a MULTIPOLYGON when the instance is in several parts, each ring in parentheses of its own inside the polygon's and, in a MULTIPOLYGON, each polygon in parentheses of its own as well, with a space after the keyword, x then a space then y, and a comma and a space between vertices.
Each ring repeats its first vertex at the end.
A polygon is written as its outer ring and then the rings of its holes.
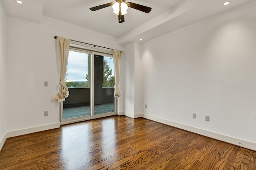
POLYGON ((90 116, 90 58, 82 51, 69 51, 65 82, 69 96, 63 102, 63 120, 90 116), (89 76, 89 77, 88 77, 89 76))

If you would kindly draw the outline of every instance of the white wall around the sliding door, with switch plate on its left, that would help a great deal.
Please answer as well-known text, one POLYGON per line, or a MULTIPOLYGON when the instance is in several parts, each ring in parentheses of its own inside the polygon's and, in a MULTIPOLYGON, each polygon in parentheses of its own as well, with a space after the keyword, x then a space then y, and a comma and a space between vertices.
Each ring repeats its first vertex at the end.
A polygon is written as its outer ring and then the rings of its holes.
POLYGON ((41 24, 7 16, 7 131, 59 123, 59 103, 52 100, 59 87, 54 36, 123 50, 114 37, 46 16, 41 24))

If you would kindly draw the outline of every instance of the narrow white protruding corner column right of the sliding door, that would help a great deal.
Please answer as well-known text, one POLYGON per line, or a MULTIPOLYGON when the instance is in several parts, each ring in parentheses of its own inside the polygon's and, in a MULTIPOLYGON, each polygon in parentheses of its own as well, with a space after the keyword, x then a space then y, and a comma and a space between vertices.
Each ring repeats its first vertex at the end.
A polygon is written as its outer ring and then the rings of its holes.
POLYGON ((125 46, 124 65, 124 113, 136 118, 144 113, 144 78, 140 56, 140 43, 125 46), (136 115, 137 114, 137 115, 136 115))

